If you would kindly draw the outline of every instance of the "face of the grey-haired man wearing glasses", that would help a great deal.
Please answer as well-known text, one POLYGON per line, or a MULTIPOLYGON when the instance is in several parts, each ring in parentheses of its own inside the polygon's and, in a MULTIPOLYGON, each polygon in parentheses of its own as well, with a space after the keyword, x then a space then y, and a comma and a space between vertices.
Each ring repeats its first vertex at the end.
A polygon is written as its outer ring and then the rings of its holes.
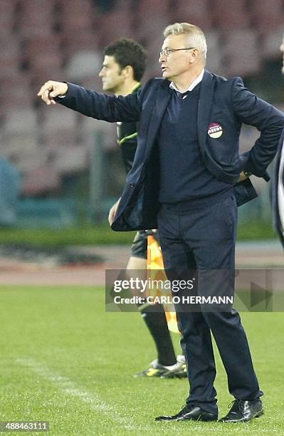
MULTIPOLYGON (((169 35, 164 40, 162 51, 165 48, 186 48, 192 47, 190 38, 186 35, 169 35)), ((159 63, 162 66, 162 76, 174 81, 174 78, 179 77, 182 73, 191 68, 193 50, 172 51, 169 56, 164 54, 159 56, 159 63)))

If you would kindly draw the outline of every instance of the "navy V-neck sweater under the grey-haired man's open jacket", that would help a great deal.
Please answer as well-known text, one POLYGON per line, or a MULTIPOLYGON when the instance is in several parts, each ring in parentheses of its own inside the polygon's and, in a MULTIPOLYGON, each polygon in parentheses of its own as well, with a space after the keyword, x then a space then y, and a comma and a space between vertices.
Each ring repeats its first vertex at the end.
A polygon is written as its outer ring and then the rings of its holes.
POLYGON ((207 170, 198 142, 197 112, 200 83, 184 94, 172 90, 158 134, 160 162, 159 202, 216 201, 232 185, 207 170), (214 198, 213 198, 214 197, 214 198))

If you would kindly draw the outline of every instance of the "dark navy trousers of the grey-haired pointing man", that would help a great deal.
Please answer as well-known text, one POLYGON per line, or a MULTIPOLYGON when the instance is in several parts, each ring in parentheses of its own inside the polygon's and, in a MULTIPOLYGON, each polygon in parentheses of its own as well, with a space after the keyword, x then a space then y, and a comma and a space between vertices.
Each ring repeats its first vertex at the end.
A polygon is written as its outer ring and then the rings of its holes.
MULTIPOLYGON (((230 195, 211 206, 199 208, 164 204, 158 220, 168 279, 192 277, 192 270, 196 269, 199 296, 226 294, 224 287, 231 288, 228 289, 228 294, 231 294, 233 274, 224 281, 215 281, 214 271, 211 270, 233 273, 235 268, 235 197, 230 195)), ((198 405, 208 412, 217 412, 211 332, 226 369, 231 395, 242 400, 253 400, 263 395, 238 312, 233 308, 208 311, 208 307, 202 305, 198 311, 191 311, 178 303, 175 308, 190 385, 186 403, 198 405)))

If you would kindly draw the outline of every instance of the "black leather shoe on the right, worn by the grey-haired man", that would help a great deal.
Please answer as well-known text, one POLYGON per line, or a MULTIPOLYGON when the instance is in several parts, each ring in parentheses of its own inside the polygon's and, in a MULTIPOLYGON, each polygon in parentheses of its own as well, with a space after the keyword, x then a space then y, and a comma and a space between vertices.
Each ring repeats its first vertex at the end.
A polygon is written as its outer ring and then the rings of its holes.
POLYGON ((228 414, 219 422, 247 422, 261 415, 263 415, 261 400, 234 400, 228 414))

